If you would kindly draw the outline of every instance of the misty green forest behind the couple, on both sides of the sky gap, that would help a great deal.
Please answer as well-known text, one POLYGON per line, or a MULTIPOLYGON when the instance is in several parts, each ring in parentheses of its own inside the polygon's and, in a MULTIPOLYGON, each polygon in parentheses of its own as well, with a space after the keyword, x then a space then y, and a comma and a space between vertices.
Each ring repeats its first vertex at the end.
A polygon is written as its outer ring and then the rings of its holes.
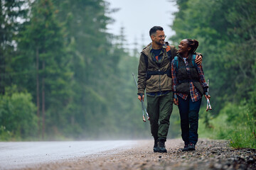
MULTIPOLYGON (((174 1, 168 41, 198 40, 210 80, 199 137, 256 148, 256 1, 174 1)), ((1 141, 151 139, 132 77, 142 47, 124 47, 125 28, 108 33, 109 2, 1 0, 0 10, 1 141)), ((181 137, 176 106, 168 137, 181 137)))

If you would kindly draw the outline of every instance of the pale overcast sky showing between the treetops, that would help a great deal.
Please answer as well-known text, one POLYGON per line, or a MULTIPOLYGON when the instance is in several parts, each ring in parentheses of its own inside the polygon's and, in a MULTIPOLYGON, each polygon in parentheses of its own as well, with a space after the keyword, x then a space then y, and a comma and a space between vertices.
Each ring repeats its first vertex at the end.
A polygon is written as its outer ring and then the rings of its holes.
POLYGON ((112 13, 114 24, 108 26, 109 32, 119 35, 120 28, 124 27, 124 35, 129 44, 129 49, 134 48, 137 40, 139 47, 151 42, 149 30, 153 26, 162 26, 167 35, 166 40, 174 35, 169 25, 173 21, 172 13, 177 11, 174 2, 168 0, 106 0, 110 2, 110 8, 120 8, 112 13), (142 35, 144 40, 142 42, 142 35))

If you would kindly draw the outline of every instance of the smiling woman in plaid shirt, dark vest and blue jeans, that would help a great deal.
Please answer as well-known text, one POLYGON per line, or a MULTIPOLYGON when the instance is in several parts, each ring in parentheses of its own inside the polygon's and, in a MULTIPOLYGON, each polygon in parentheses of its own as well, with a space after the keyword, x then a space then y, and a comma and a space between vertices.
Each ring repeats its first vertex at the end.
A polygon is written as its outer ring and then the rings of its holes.
POLYGON ((174 104, 178 106, 181 116, 181 137, 185 143, 182 151, 195 150, 201 99, 203 95, 210 99, 203 67, 193 61, 197 47, 197 40, 181 40, 178 56, 171 62, 174 104))

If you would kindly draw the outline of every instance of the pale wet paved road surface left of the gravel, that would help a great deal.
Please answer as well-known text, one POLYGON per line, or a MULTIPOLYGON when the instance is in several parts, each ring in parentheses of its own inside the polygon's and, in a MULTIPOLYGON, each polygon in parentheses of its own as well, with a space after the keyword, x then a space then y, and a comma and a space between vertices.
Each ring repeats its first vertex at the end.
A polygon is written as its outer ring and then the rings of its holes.
POLYGON ((76 142, 0 142, 0 169, 21 169, 65 159, 113 154, 136 145, 132 140, 76 142))

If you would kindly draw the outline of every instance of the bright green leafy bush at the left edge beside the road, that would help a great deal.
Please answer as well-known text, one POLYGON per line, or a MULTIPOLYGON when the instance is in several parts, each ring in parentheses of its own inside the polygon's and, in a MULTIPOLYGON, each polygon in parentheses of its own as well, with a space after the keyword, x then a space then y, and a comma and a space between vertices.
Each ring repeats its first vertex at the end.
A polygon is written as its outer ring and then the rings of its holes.
POLYGON ((36 106, 28 93, 0 96, 1 140, 18 140, 38 134, 36 106))

